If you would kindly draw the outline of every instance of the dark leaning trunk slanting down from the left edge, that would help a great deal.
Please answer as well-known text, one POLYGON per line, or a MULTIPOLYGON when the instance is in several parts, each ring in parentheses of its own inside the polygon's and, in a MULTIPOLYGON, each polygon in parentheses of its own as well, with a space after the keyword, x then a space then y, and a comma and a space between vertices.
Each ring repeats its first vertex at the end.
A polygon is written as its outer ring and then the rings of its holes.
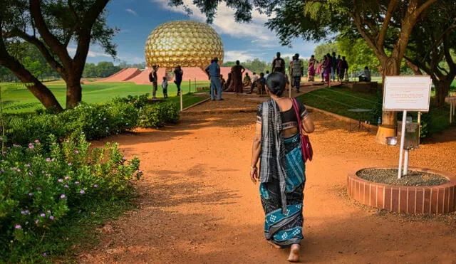
POLYGON ((28 90, 38 98, 46 109, 63 110, 51 90, 33 76, 18 60, 8 54, 3 54, 0 58, 0 65, 11 70, 22 83, 33 84, 27 85, 28 90))

